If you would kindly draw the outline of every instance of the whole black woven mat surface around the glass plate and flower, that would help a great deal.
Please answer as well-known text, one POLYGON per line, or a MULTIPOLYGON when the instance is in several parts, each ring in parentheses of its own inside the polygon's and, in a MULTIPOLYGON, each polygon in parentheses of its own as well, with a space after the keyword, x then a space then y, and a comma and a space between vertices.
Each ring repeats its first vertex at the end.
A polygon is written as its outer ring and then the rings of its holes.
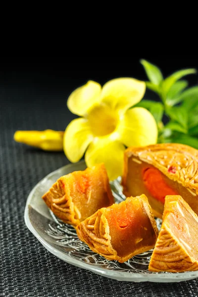
MULTIPOLYGON (((133 58, 1 58, 0 60, 0 296, 195 297, 198 279, 173 284, 107 279, 67 264, 44 248, 24 223, 32 188, 69 163, 63 152, 46 152, 13 141, 16 130, 64 130, 75 117, 66 100, 92 79, 103 85, 116 77, 146 80, 140 58, 164 76, 198 68, 197 56, 133 58)), ((197 75, 189 75, 190 85, 197 75)), ((156 99, 152 92, 146 98, 156 99)))

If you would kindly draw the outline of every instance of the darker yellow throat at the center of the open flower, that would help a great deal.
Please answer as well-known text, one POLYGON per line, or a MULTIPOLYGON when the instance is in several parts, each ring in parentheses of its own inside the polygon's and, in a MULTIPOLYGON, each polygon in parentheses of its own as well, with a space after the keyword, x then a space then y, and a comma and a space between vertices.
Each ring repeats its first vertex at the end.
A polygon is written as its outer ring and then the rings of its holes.
POLYGON ((105 136, 115 130, 118 115, 108 105, 95 105, 89 112, 88 120, 95 136, 105 136))

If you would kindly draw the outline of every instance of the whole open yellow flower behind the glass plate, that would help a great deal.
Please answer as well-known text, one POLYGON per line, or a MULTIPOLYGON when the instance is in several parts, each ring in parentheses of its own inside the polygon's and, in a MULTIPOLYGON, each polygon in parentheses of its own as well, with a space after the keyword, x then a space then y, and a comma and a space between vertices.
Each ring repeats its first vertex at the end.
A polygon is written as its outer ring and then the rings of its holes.
POLYGON ((76 89, 68 98, 69 110, 82 116, 71 121, 63 148, 71 162, 85 153, 88 167, 103 162, 110 180, 122 174, 125 147, 155 144, 157 126, 151 113, 131 106, 144 96, 145 82, 117 78, 103 87, 97 82, 76 89))

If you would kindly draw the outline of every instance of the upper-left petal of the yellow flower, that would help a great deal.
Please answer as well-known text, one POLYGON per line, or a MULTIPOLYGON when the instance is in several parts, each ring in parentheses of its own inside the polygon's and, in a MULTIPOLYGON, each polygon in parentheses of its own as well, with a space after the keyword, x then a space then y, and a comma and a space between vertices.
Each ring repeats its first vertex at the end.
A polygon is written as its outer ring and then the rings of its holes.
POLYGON ((67 107, 74 114, 85 115, 91 106, 99 102, 100 92, 100 84, 88 81, 86 85, 71 93, 67 100, 67 107))

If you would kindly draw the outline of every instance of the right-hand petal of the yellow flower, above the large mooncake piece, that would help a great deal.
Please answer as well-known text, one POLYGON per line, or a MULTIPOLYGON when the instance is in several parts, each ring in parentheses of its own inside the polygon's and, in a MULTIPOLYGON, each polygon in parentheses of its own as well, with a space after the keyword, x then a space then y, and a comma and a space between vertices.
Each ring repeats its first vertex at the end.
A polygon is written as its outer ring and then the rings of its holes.
POLYGON ((127 147, 142 147, 157 142, 157 125, 152 114, 143 107, 126 111, 117 129, 119 140, 127 147))

